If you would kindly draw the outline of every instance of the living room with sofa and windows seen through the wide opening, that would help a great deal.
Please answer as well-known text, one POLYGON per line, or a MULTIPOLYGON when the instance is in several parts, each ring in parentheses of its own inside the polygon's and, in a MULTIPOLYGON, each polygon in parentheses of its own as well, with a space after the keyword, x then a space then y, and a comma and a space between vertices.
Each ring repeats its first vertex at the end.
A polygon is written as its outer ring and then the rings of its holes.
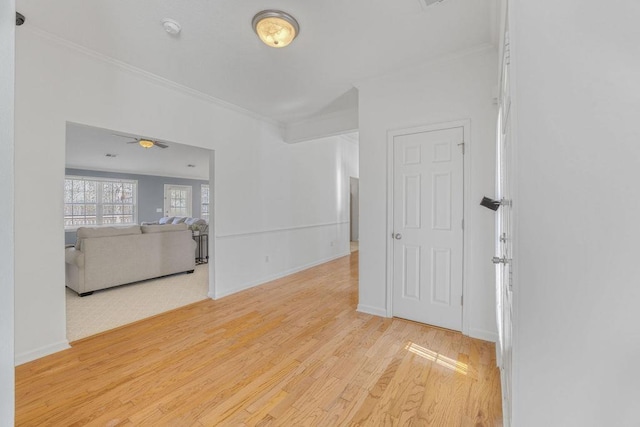
POLYGON ((67 124, 70 342, 207 298, 211 153, 67 124))

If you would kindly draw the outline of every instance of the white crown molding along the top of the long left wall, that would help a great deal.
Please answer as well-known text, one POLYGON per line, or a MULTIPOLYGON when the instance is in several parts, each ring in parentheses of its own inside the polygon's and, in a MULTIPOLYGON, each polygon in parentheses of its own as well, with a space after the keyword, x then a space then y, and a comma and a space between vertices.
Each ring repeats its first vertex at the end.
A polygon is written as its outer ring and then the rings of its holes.
MULTIPOLYGON (((281 123, 279 121, 270 119, 268 117, 265 117, 261 114, 258 114, 254 111, 248 110, 244 107, 240 107, 239 105, 236 104, 232 104, 230 102, 227 102, 225 100, 222 100, 220 98, 216 98, 215 96, 211 96, 208 95, 204 92, 200 92, 196 89, 190 88, 189 86, 185 86, 182 85, 180 83, 176 83, 172 80, 166 79, 164 77, 160 77, 157 74, 153 74, 150 73, 148 71, 145 71, 141 68, 138 67, 134 67, 133 65, 127 64, 126 62, 120 61, 118 59, 112 58, 108 55, 105 55, 103 53, 97 52, 93 49, 89 49, 85 46, 79 45, 77 43, 74 43, 72 41, 69 41, 67 39, 64 39, 62 37, 56 36, 54 34, 51 34, 47 31, 44 31, 40 28, 34 27, 34 26, 29 26, 27 28, 24 28, 24 30, 27 30, 29 32, 31 32, 32 34, 41 37, 43 39, 46 39, 50 42, 53 42, 55 44, 58 44, 60 46, 66 47, 68 49, 74 50, 78 53, 84 54, 86 56, 89 56, 93 59, 96 59, 98 61, 113 65, 116 68, 119 68, 122 71, 128 72, 129 74, 133 74, 136 77, 141 77, 151 83, 157 84, 159 86, 163 86, 165 88, 168 89, 172 89, 175 90, 177 92, 181 92, 185 95, 189 95, 192 96, 194 98, 198 98, 202 101, 205 102, 209 102, 211 104, 215 104, 219 107, 225 108, 227 110, 231 110, 234 111, 236 113, 242 114, 244 116, 250 117, 252 119, 255 120, 259 120, 261 122, 267 123, 269 125, 275 126, 277 127, 279 130, 282 131, 282 129, 284 129, 285 125, 284 123, 281 123)), ((21 29, 22 31, 22 29, 21 29)))

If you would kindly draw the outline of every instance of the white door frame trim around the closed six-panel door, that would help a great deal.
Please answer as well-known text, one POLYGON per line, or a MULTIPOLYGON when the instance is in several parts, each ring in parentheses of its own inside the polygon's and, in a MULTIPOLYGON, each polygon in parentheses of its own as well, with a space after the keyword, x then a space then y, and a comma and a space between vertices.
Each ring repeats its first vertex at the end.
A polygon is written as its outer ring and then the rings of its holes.
MULTIPOLYGON (((391 233, 393 233, 393 176, 394 176, 394 154, 393 140, 396 136, 408 135, 414 133, 432 132, 438 130, 462 128, 462 137, 464 142, 464 156, 462 156, 462 218, 464 221, 464 229, 462 230, 462 296, 468 295, 467 277, 468 277, 468 260, 469 260, 469 229, 471 221, 469 221, 470 188, 471 188, 471 120, 455 120, 450 122, 441 122, 435 124, 427 124, 409 128, 393 129, 387 131, 387 300, 386 300, 386 316, 393 317, 393 257, 394 245, 391 233)), ((462 224, 461 224, 462 226, 462 224)), ((462 333, 469 335, 468 322, 468 303, 462 304, 462 333)))

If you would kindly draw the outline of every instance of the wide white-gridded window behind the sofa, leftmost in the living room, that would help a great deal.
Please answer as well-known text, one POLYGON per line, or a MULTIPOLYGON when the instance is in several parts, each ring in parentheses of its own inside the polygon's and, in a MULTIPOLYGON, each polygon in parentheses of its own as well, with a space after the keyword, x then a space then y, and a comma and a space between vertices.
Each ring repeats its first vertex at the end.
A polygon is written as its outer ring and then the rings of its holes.
POLYGON ((64 226, 135 224, 138 181, 88 176, 64 180, 64 226))

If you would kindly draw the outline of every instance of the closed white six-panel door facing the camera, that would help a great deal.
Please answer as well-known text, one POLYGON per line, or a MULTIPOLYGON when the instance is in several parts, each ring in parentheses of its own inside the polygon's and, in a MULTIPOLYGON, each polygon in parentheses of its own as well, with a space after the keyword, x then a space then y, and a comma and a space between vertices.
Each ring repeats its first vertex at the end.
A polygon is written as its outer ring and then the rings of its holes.
POLYGON ((464 128, 392 143, 393 315, 460 331, 464 128))

